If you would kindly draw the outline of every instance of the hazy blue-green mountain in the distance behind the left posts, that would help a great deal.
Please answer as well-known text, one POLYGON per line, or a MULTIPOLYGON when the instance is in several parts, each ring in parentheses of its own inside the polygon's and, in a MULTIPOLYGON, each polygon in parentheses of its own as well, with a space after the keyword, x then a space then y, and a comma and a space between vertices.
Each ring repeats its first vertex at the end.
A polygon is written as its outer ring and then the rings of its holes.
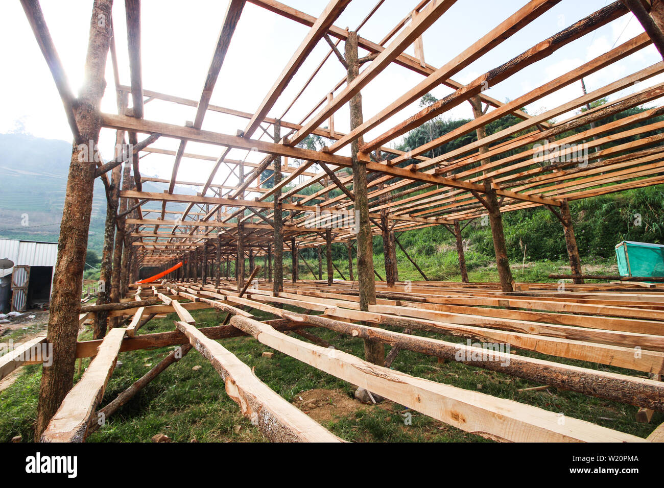
MULTIPOLYGON (((0 237, 57 242, 71 154, 71 143, 66 141, 24 133, 0 134, 0 237)), ((165 188, 167 185, 161 183, 143 183, 143 191, 161 193, 165 188)), ((196 195, 196 189, 178 186, 176 193, 196 195)), ((156 208, 157 204, 151 206, 156 208)), ((173 205, 173 210, 180 207, 185 205, 173 205)), ((89 248, 101 250, 105 219, 106 195, 97 179, 89 248)))

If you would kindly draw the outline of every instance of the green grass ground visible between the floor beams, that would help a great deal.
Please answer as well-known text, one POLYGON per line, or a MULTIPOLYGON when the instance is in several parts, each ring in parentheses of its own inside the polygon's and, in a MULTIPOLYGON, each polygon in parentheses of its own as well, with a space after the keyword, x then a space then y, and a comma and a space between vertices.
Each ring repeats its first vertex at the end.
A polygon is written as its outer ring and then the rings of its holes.
MULTIPOLYGON (((263 315, 256 312, 258 315, 263 315)), ((193 311, 198 327, 218 325, 224 317, 210 309, 193 311)), ((173 329, 173 314, 163 319, 153 319, 141 334, 169 331, 173 329)), ((332 331, 317 329, 320 337, 337 349, 363 357, 362 341, 332 331)), ((434 337, 430 333, 418 333, 434 337)), ((455 337, 440 337, 453 342, 463 342, 455 337)), ((90 339, 90 332, 81 337, 90 339)), ((224 339, 224 347, 234 353, 240 361, 254 368, 258 378, 264 381, 286 400, 292 402, 302 392, 314 388, 337 389, 352 396, 353 385, 334 376, 305 365, 287 355, 274 353, 272 359, 262 357, 264 351, 272 351, 250 337, 224 339)), ((389 348, 387 348, 389 349, 389 348)), ((120 392, 156 365, 172 348, 152 351, 131 351, 120 354, 122 365, 114 372, 104 395, 102 404, 110 402, 120 392)), ((546 358, 528 351, 518 351, 529 357, 546 358)), ((599 368, 599 365, 556 359, 569 365, 599 368)), ((83 368, 90 359, 82 362, 83 368)), ((467 390, 477 390, 500 398, 509 398, 563 413, 565 416, 594 422, 608 428, 647 436, 655 426, 664 422, 664 414, 655 413, 651 424, 637 424, 634 420, 637 408, 593 398, 584 394, 564 390, 519 392, 519 388, 538 384, 473 368, 461 363, 438 364, 436 358, 426 357, 410 351, 399 353, 393 367, 402 372, 428 378, 436 382, 452 384, 467 390)), ((620 368, 606 370, 627 373, 620 368)), ((26 366, 17 381, 0 392, 0 442, 21 435, 23 440, 32 440, 32 425, 37 411, 37 398, 41 378, 40 366, 26 366)), ((80 375, 76 373, 75 380, 80 375)), ((404 424, 400 412, 402 406, 390 410, 376 406, 358 404, 356 412, 338 416, 325 427, 345 440, 355 442, 478 442, 479 436, 467 434, 428 416, 412 413, 412 425, 404 424)), ((175 442, 264 442, 266 439, 249 419, 240 414, 238 406, 228 398, 220 376, 210 363, 193 350, 179 363, 170 366, 153 382, 137 394, 129 403, 108 419, 107 424, 88 438, 88 442, 149 442, 155 434, 167 434, 175 442), (197 371, 194 366, 201 366, 197 371)))

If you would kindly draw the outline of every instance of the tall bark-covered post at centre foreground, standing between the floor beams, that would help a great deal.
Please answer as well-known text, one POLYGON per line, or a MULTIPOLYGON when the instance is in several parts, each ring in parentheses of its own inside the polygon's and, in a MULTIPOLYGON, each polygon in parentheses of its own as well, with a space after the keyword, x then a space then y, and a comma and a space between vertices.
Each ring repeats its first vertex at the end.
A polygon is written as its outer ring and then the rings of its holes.
MULTIPOLYGON (((359 75, 357 61, 357 32, 349 32, 345 43, 345 59, 348 66, 347 84, 351 84, 359 75)), ((351 131, 363 123, 362 94, 357 92, 350 102, 351 131)), ((355 218, 359 220, 357 234, 357 276, 360 291, 360 309, 369 310, 369 305, 376 303, 376 282, 373 267, 373 236, 369 221, 369 200, 367 199, 367 165, 360 161, 357 153, 364 138, 357 137, 351 142, 351 162, 353 164, 353 192, 355 193, 355 218)), ((365 340, 365 359, 376 365, 385 361, 384 345, 371 339, 365 340)))

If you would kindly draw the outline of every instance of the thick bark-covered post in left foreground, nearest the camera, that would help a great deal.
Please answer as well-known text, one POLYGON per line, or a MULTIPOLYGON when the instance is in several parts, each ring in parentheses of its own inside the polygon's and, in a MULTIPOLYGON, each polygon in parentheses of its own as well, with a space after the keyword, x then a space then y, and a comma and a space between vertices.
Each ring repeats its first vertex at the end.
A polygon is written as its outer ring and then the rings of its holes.
MULTIPOLYGON (((90 35, 85 62, 85 76, 80 97, 74 104, 74 119, 80 139, 72 145, 72 157, 62 210, 62 226, 58 240, 53 291, 50 299, 47 341, 53 345, 52 365, 42 368, 39 406, 35 423, 35 439, 41 437, 51 417, 64 400, 74 382, 76 337, 82 278, 85 267, 88 229, 92 212, 92 194, 96 164, 94 146, 88 147, 88 158, 82 158, 79 146, 96 145, 101 121, 99 108, 106 82, 106 58, 112 31, 110 23, 112 1, 96 0, 92 7, 90 35), (98 19, 107 19, 100 23, 98 19), (92 158, 90 158, 92 155, 92 158)), ((23 3, 38 40, 46 38, 52 44, 37 2, 23 3)))

